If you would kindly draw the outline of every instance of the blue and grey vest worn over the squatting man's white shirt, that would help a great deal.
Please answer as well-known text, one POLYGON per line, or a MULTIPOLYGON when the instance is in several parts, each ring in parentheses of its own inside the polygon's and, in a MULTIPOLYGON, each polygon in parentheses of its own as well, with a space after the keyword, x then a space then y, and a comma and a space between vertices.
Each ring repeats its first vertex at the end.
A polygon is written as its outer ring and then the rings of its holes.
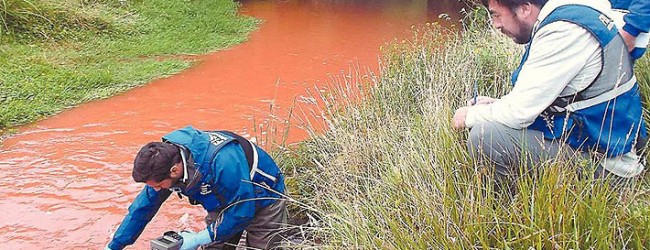
MULTIPOLYGON (((602 68, 584 90, 559 96, 528 127, 544 133, 548 140, 563 138, 575 149, 595 150, 618 156, 630 152, 638 137, 646 137, 639 86, 632 59, 613 21, 584 5, 568 4, 553 10, 537 27, 556 21, 571 22, 588 30, 600 43, 602 68)), ((528 43, 512 84, 530 53, 528 43)))

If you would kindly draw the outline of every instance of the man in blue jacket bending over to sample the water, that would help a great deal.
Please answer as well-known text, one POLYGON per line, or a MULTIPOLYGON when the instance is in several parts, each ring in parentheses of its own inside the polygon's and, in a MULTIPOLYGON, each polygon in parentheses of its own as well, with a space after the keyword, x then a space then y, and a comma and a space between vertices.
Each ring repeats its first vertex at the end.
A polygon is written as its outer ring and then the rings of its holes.
POLYGON ((181 249, 220 249, 247 231, 248 246, 276 247, 286 224, 284 176, 273 159, 250 141, 227 131, 191 126, 162 142, 146 144, 135 158, 133 179, 147 185, 129 207, 107 249, 133 244, 173 193, 207 212, 206 229, 181 232, 181 249))

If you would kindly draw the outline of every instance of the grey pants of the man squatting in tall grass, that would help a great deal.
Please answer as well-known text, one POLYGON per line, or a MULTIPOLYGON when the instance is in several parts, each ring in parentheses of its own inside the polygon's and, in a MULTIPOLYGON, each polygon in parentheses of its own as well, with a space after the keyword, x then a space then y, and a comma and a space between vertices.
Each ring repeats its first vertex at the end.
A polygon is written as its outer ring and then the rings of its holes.
POLYGON ((522 174, 539 171, 541 163, 552 160, 572 162, 579 176, 607 179, 617 188, 631 185, 634 180, 610 173, 589 153, 576 151, 561 140, 545 140, 536 130, 481 123, 472 128, 467 143, 472 158, 491 168, 497 188, 510 186, 522 174))

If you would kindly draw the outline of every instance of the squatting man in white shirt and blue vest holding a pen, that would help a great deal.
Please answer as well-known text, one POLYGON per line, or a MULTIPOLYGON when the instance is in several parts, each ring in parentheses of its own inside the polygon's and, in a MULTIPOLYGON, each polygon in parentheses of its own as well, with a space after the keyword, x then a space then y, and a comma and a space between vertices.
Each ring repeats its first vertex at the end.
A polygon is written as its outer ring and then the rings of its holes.
POLYGON ((609 2, 484 4, 495 28, 527 44, 510 93, 470 100, 453 117, 455 128, 471 129, 470 152, 494 166, 497 184, 551 159, 593 160, 596 178, 638 176, 635 145, 646 137, 639 88, 609 2))

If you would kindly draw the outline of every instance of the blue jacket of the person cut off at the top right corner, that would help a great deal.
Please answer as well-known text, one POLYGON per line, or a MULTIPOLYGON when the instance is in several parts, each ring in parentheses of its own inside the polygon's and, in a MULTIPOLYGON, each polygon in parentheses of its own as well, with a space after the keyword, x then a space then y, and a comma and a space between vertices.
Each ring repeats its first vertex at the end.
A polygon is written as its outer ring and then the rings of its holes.
MULTIPOLYGON (((650 0, 610 0, 613 9, 629 11, 624 17, 623 29, 633 36, 641 32, 650 32, 650 0)), ((647 44, 645 44, 647 46, 647 44)), ((637 47, 633 50, 632 57, 639 58, 646 48, 637 47)))

